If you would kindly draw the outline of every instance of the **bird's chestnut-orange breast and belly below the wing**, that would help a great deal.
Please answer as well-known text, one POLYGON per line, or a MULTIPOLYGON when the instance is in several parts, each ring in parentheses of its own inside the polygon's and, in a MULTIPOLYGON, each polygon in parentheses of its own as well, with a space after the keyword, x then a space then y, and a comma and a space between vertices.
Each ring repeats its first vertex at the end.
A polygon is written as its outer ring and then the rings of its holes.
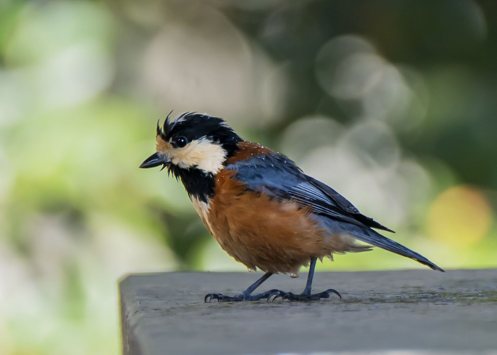
POLYGON ((326 231, 305 208, 248 190, 235 174, 217 174, 206 216, 207 228, 228 254, 250 269, 291 275, 311 257, 325 256, 326 231))

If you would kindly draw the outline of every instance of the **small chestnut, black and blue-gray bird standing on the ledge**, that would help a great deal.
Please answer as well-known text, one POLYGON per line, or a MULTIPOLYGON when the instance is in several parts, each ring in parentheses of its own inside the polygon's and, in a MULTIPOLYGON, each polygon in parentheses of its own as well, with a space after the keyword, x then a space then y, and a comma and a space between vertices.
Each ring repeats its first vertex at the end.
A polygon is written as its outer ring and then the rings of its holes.
POLYGON ((222 118, 186 112, 167 115, 156 129, 156 153, 140 168, 162 166, 180 180, 205 227, 221 248, 249 271, 264 275, 237 295, 209 293, 204 302, 341 299, 335 289, 312 293, 317 260, 379 247, 445 272, 425 257, 383 236, 393 232, 292 160, 243 140, 222 118), (376 229, 376 230, 375 230, 376 229), (302 293, 271 289, 253 294, 273 274, 299 276, 302 293))

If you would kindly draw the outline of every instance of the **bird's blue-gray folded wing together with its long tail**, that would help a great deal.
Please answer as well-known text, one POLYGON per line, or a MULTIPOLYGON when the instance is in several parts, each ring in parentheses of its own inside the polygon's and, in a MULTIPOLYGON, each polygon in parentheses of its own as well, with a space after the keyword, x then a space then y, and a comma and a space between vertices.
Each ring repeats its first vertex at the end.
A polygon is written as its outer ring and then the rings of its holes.
POLYGON ((237 171, 234 178, 247 188, 264 192, 281 200, 293 200, 310 208, 317 220, 331 232, 343 232, 368 244, 412 258, 435 270, 443 271, 422 255, 382 236, 371 228, 390 231, 372 218, 362 215, 345 197, 330 186, 305 175, 294 162, 271 152, 253 156, 246 161, 228 165, 225 169, 237 171))

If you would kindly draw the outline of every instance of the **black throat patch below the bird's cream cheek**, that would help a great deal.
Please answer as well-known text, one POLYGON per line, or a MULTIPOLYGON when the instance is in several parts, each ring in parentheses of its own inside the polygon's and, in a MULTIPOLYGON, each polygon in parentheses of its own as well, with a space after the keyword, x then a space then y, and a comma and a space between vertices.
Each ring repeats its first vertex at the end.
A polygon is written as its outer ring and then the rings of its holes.
POLYGON ((207 203, 208 199, 214 194, 216 182, 213 173, 206 173, 196 168, 181 169, 175 165, 171 165, 167 169, 176 179, 181 179, 190 199, 195 197, 207 203))

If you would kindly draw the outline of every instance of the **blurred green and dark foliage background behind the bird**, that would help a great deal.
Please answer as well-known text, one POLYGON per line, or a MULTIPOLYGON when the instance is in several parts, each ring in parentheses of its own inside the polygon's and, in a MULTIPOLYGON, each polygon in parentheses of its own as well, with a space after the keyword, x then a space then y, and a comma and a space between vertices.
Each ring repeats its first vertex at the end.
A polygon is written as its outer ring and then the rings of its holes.
POLYGON ((439 266, 497 266, 496 64, 492 0, 0 0, 0 353, 118 354, 119 277, 245 270, 138 169, 171 109, 224 117, 439 266))

